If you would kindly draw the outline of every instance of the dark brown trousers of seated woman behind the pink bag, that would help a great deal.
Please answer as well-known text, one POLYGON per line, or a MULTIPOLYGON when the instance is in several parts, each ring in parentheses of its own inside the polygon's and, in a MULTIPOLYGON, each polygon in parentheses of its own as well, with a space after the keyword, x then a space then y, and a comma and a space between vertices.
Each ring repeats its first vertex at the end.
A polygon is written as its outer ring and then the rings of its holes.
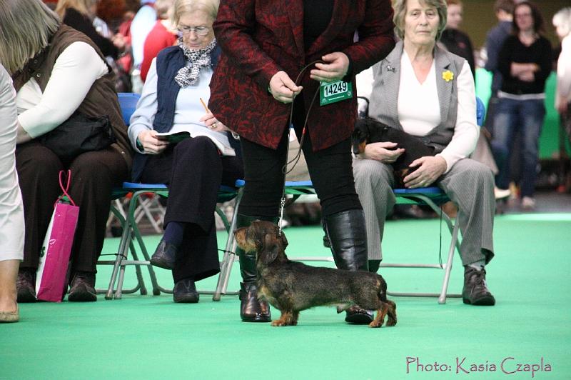
POLYGON ((103 249, 106 222, 111 207, 111 189, 127 179, 125 159, 115 149, 80 154, 62 161, 37 141, 16 148, 16 169, 24 200, 26 238, 21 268, 38 267, 39 254, 51 214, 61 189, 59 171, 71 169, 69 195, 79 206, 79 217, 71 248, 71 270, 96 272, 103 249))

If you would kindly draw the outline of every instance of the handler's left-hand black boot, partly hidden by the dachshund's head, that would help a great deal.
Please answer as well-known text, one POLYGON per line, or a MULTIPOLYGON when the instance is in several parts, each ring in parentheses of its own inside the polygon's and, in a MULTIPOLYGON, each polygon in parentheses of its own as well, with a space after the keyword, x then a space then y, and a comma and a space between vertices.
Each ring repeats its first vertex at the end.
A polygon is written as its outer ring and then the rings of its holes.
MULTIPOLYGON (((249 226, 253 221, 266 220, 277 223, 278 218, 263 216, 247 216, 238 214, 236 227, 249 226)), ((240 317, 244 322, 271 322, 272 316, 267 301, 258 300, 258 287, 256 286, 257 270, 256 256, 246 254, 243 249, 236 248, 240 259, 240 274, 243 282, 240 283, 240 317)))

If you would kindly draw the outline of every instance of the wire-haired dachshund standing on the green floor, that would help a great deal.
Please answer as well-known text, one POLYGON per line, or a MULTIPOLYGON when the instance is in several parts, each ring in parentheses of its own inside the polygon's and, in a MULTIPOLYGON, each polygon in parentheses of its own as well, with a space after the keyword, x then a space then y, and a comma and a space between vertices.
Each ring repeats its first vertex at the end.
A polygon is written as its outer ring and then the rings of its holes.
POLYGON ((387 283, 379 274, 368 271, 345 271, 308 266, 288 260, 288 240, 278 226, 269 221, 254 221, 234 232, 236 241, 246 252, 256 253, 258 295, 281 311, 272 326, 295 326, 299 312, 313 306, 343 304, 340 313, 353 304, 376 310, 370 327, 397 323, 396 304, 387 299, 387 283))

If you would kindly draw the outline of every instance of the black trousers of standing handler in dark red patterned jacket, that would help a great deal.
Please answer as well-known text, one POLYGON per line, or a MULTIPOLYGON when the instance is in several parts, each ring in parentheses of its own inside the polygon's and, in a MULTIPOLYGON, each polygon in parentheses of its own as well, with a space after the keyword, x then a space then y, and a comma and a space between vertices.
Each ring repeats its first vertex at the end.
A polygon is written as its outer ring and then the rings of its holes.
MULTIPOLYGON (((295 107, 300 103, 295 102, 295 107)), ((305 119, 302 111, 296 112, 293 119, 298 139, 301 139, 305 119)), ((241 139, 246 179, 239 209, 241 214, 270 218, 279 215, 284 182, 283 166, 288 154, 288 132, 286 128, 278 149, 241 139)), ((345 139, 326 149, 313 151, 310 136, 305 134, 303 154, 320 199, 323 216, 349 209, 362 209, 355 191, 350 143, 350 139, 345 139)))

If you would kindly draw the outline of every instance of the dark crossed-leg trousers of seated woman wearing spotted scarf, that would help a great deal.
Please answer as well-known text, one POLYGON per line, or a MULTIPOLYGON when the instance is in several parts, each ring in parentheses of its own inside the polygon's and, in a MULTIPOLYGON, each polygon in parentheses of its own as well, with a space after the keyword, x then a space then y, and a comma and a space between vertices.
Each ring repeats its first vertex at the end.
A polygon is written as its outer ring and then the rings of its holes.
POLYGON ((185 224, 173 269, 175 282, 189 277, 200 281, 220 271, 214 221, 218 189, 233 186, 241 178, 241 159, 221 156, 203 136, 149 156, 141 181, 168 186, 164 226, 171 221, 185 224))

